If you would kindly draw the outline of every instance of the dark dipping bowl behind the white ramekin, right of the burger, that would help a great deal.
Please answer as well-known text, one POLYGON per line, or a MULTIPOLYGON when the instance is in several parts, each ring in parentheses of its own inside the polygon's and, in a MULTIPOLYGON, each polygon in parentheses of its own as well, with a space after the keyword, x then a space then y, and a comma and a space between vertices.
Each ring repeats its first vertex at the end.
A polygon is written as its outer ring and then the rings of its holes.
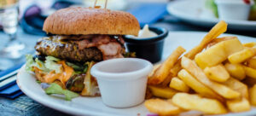
POLYGON ((161 60, 165 38, 168 35, 166 28, 149 27, 149 30, 158 34, 153 38, 131 38, 124 36, 125 45, 129 52, 136 52, 137 58, 148 60, 152 63, 161 60))

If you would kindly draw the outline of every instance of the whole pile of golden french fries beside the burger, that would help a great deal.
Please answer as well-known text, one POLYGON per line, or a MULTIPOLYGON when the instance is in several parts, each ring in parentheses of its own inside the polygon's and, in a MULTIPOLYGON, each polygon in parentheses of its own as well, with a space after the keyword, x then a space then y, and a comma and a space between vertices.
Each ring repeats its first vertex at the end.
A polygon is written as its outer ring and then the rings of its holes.
POLYGON ((227 30, 221 20, 194 49, 177 47, 148 75, 152 113, 174 115, 190 110, 204 114, 238 113, 256 105, 256 43, 218 38, 227 30))

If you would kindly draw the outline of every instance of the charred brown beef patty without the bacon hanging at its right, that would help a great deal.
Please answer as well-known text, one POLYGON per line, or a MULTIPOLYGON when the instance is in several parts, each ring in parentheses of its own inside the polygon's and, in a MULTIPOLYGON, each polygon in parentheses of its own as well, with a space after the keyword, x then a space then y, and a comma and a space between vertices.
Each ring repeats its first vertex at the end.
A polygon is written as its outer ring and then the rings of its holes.
POLYGON ((85 37, 77 40, 54 36, 39 39, 35 49, 40 55, 51 55, 68 61, 102 61, 104 60, 102 50, 98 49, 97 46, 110 42, 117 43, 117 39, 105 35, 90 36, 90 38, 85 37))

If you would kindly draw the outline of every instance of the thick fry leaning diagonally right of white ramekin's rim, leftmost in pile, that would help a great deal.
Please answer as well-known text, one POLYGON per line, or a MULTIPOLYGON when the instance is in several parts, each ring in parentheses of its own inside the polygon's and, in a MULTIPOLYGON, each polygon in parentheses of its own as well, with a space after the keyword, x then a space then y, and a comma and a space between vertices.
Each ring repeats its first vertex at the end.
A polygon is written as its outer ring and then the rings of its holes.
POLYGON ((161 66, 155 71, 155 73, 148 78, 148 84, 155 85, 163 82, 167 78, 170 69, 173 67, 178 57, 183 54, 183 52, 185 52, 185 49, 183 49, 183 47, 177 47, 177 49, 172 52, 172 55, 170 55, 166 59, 166 61, 164 61, 161 66))

